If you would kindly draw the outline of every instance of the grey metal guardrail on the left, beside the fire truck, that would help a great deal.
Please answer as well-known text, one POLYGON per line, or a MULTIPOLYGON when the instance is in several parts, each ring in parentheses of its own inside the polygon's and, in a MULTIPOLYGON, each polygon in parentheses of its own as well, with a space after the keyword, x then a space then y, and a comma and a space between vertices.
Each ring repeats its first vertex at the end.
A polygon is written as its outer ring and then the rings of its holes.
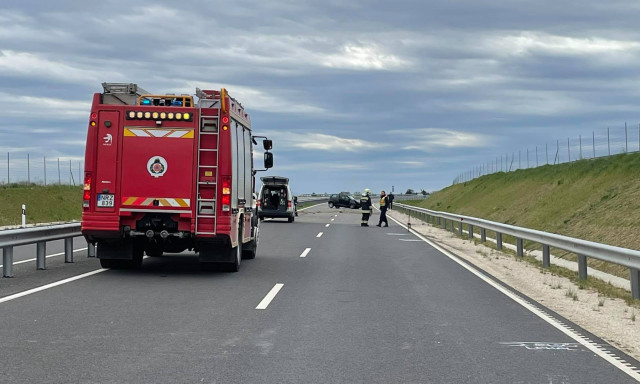
MULTIPOLYGON (((13 277, 13 247, 36 244, 37 269, 46 269, 47 241, 64 239, 64 262, 73 263, 73 238, 82 236, 80 223, 47 225, 0 231, 2 248, 2 276, 13 277)), ((95 256, 95 248, 89 244, 89 257, 95 256)))

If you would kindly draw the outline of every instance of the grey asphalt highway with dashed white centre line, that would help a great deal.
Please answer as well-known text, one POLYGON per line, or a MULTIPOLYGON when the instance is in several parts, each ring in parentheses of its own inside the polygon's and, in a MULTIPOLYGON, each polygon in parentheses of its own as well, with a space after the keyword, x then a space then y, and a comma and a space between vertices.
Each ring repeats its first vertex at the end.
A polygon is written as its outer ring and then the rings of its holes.
POLYGON ((326 204, 265 221, 238 273, 189 253, 136 271, 103 270, 86 250, 46 271, 15 265, 0 279, 0 382, 638 382, 614 360, 638 362, 602 340, 546 311, 597 350, 578 342, 481 271, 376 222, 326 204))

